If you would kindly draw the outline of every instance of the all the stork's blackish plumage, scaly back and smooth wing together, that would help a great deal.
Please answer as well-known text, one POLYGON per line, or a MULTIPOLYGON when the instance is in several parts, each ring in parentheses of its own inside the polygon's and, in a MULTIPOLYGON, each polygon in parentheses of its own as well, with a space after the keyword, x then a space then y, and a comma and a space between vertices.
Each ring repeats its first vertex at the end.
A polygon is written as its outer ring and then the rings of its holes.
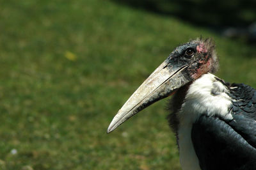
POLYGON ((191 138, 202 169, 256 169, 256 90, 228 84, 233 120, 206 115, 193 124, 191 138))

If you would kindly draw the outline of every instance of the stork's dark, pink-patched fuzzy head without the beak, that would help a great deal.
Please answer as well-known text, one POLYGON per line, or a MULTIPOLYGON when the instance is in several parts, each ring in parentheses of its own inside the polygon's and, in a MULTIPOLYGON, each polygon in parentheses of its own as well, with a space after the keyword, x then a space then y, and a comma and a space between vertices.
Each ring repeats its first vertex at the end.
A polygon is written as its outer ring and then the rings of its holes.
POLYGON ((196 39, 177 47, 164 61, 168 66, 187 66, 186 72, 193 80, 202 74, 218 70, 218 58, 211 39, 196 39))

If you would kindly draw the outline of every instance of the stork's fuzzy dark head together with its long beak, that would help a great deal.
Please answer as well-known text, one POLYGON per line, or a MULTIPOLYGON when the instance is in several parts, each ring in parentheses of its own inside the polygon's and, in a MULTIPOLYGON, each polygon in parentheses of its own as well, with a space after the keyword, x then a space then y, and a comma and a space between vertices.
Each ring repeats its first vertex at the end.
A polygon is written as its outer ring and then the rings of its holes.
POLYGON ((172 95, 204 73, 214 73, 217 69, 218 58, 213 40, 198 38, 180 45, 125 102, 111 121, 108 133, 148 105, 172 95))

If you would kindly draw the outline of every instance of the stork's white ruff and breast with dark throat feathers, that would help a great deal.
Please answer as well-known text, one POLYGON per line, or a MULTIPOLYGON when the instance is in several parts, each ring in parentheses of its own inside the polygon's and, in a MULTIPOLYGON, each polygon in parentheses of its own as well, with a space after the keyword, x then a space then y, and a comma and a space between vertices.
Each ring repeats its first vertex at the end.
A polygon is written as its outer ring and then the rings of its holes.
MULTIPOLYGON (((191 139, 191 130, 203 114, 228 118, 231 99, 220 79, 206 73, 182 87, 173 97, 174 121, 169 121, 177 136, 182 169, 200 169, 191 139)), ((172 114, 171 114, 172 115, 172 114)))

